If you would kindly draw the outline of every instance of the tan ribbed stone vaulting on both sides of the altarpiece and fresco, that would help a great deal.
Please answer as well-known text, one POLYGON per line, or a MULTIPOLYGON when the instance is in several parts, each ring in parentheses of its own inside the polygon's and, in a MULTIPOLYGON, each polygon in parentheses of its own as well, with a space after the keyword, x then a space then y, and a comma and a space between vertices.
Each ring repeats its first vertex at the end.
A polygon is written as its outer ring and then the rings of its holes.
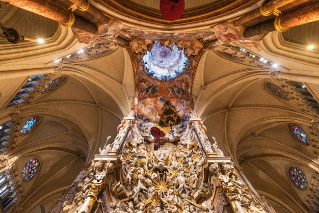
MULTIPOLYGON (((171 39, 172 28, 178 32, 174 36, 191 38, 194 36, 191 32, 201 30, 201 25, 207 30, 203 31, 203 37, 206 41, 214 41, 210 44, 216 47, 209 49, 206 46, 199 52, 196 71, 191 78, 191 96, 192 108, 206 126, 208 138, 216 138, 225 156, 232 157, 237 170, 243 170, 255 190, 276 212, 315 212, 318 208, 315 203, 318 202, 319 145, 316 104, 312 102, 318 100, 319 65, 317 47, 307 50, 306 42, 311 36, 316 38, 311 28, 317 27, 317 21, 284 33, 268 33, 259 38, 259 49, 247 46, 252 40, 223 44, 222 37, 216 41, 216 37, 210 35, 211 32, 220 32, 216 30, 217 23, 259 9, 262 2, 238 1, 242 6, 237 9, 228 2, 228 12, 211 8, 211 5, 218 5, 218 1, 203 2, 197 10, 196 4, 185 2, 181 19, 168 23, 156 10, 156 4, 148 5, 148 1, 140 4, 134 1, 91 1, 91 5, 108 14, 111 20, 118 19, 123 23, 119 34, 110 34, 117 36, 118 40, 108 43, 108 39, 113 39, 111 36, 101 40, 103 45, 94 48, 92 44, 78 43, 74 39, 73 33, 80 40, 88 38, 79 31, 73 29, 72 32, 56 21, 1 2, 0 20, 3 24, 26 37, 41 34, 46 40, 45 44, 31 41, 10 44, 6 39, 0 39, 0 120, 1 123, 15 122, 10 145, 2 153, 6 166, 2 171, 10 169, 18 189, 18 199, 8 212, 45 212, 70 187, 83 167, 91 163, 107 137, 112 136, 109 142, 115 139, 117 126, 134 107, 131 103, 137 87, 137 64, 132 59, 132 52, 121 46, 126 44, 121 43, 120 38, 125 40, 125 36, 134 34, 140 39, 166 41, 171 39), (143 12, 137 13, 134 7, 129 12, 127 8, 132 5, 143 12), (199 16, 196 11, 203 15, 199 16), (196 15, 203 21, 194 19, 196 15), (147 29, 150 29, 149 36, 143 34, 147 29), (155 29, 164 33, 156 37, 158 32, 155 29), (300 31, 308 33, 302 36, 298 34, 300 31), (294 33, 298 36, 293 37, 294 33), (246 49, 248 54, 234 46, 246 49), (79 49, 86 51, 83 55, 77 54, 79 49), (273 69, 268 63, 253 60, 249 54, 278 63, 279 67, 273 69), (69 55, 72 57, 66 58, 69 55), (61 58, 60 62, 55 62, 61 58), (6 108, 35 74, 49 75, 31 94, 31 99, 6 108), (51 79, 61 76, 66 79, 61 87, 47 93, 40 92, 51 79), (296 82, 305 85, 307 91, 300 89, 296 82), (267 83, 280 86, 290 98, 284 100, 275 96, 267 88, 267 83), (39 116, 41 122, 27 136, 19 136, 21 126, 32 116, 39 116), (310 146, 291 137, 287 130, 290 123, 304 129, 310 146), (31 158, 39 159, 41 166, 35 177, 25 182, 21 171, 31 158), (308 180, 305 191, 300 191, 289 180, 290 167, 298 167, 305 173, 308 180)), ((282 6, 287 13, 302 7, 297 1, 289 2, 293 5, 291 8, 282 6)), ((312 2, 302 1, 300 4, 312 2)), ((58 2, 61 7, 65 4, 58 2)), ((91 39, 96 42, 97 38, 91 39)), ((254 45, 257 40, 253 40, 254 45)), ((130 42, 134 44, 133 40, 130 42)), ((200 41, 197 43, 203 45, 200 41)), ((190 44, 184 44, 191 49, 190 44)), ((137 47, 132 49, 137 50, 137 47)), ((196 52, 196 48, 193 49, 196 52)), ((192 55, 191 51, 188 52, 192 55)))

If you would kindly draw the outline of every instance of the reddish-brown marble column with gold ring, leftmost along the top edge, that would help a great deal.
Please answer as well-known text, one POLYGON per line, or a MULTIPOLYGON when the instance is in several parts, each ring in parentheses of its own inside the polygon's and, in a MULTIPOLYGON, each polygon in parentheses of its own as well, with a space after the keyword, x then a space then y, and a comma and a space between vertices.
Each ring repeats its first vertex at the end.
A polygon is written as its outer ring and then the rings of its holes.
POLYGON ((42 15, 55 21, 59 21, 65 26, 84 30, 95 34, 98 32, 94 23, 75 15, 72 11, 56 5, 48 0, 8 0, 11 5, 42 15))

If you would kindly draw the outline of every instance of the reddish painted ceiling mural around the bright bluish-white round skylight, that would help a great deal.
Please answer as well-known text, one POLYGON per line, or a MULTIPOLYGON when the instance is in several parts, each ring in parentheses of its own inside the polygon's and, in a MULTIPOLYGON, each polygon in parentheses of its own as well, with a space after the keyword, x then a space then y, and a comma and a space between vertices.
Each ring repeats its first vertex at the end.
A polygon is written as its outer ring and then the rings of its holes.
POLYGON ((176 110, 182 121, 187 119, 193 108, 193 70, 202 45, 197 41, 137 39, 130 48, 136 59, 132 107, 138 119, 158 123, 167 105, 176 110))

